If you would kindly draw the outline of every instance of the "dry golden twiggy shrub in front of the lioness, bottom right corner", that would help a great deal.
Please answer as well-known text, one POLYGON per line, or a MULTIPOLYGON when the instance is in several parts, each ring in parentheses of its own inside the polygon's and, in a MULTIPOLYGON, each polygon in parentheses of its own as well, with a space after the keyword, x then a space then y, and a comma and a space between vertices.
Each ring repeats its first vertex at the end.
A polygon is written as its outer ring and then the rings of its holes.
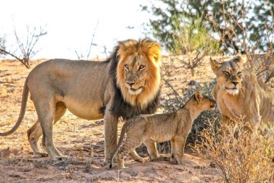
POLYGON ((220 137, 215 122, 209 122, 194 149, 215 162, 225 183, 273 183, 272 140, 261 133, 251 135, 243 119, 233 122, 225 138, 220 137))

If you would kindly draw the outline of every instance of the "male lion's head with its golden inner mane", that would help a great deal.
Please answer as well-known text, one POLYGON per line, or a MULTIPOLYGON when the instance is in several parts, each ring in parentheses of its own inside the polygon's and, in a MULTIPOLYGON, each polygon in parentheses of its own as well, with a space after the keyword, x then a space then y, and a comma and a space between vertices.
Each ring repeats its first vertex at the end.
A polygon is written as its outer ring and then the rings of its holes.
POLYGON ((131 105, 146 107, 160 88, 160 45, 143 39, 119 42, 117 85, 131 105))

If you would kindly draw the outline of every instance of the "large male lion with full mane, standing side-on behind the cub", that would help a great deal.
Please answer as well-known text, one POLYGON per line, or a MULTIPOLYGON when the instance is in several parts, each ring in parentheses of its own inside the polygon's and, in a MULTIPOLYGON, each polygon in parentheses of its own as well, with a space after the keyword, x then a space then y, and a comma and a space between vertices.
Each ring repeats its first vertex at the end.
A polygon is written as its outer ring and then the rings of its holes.
MULTIPOLYGON (((156 111, 160 95, 160 45, 149 39, 119 42, 106 61, 52 59, 37 65, 28 75, 22 95, 19 118, 14 127, 0 136, 13 133, 21 124, 28 97, 33 101, 38 120, 27 131, 34 156, 47 154, 52 160, 63 155, 52 138, 55 124, 68 109, 87 119, 104 118, 105 161, 117 147, 118 118, 129 119, 156 111), (43 134, 43 153, 38 145, 43 134)), ((154 142, 148 145, 158 157, 154 142)))

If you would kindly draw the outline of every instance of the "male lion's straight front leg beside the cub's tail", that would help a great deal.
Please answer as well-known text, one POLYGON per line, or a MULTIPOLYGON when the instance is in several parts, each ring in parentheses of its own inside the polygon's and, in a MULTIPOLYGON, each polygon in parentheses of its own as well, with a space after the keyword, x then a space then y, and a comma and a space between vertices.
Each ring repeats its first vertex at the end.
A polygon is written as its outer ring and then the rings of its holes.
POLYGON ((115 117, 110 111, 111 104, 106 107, 104 116, 105 125, 105 163, 111 160, 111 155, 118 144, 118 117, 115 117))

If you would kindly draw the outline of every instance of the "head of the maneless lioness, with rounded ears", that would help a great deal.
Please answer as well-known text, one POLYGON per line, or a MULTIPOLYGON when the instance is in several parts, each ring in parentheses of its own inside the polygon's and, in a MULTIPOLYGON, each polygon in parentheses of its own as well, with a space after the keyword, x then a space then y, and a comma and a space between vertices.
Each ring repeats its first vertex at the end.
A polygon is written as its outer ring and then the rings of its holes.
POLYGON ((217 76, 217 83, 221 89, 226 90, 229 94, 237 95, 242 87, 243 81, 243 59, 240 56, 219 63, 210 58, 211 69, 217 76))

